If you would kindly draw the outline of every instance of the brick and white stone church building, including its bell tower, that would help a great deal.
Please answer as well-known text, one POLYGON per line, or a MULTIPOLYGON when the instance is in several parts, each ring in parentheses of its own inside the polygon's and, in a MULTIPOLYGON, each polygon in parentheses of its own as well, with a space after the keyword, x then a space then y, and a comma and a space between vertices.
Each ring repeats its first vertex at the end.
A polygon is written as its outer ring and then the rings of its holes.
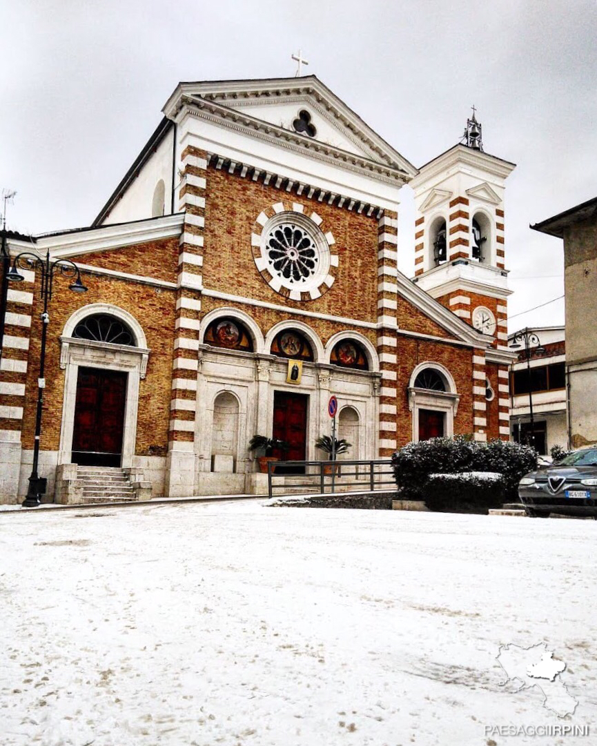
MULTIPOLYGON (((13 257, 72 260, 87 287, 54 277, 46 499, 75 500, 86 467, 122 468, 145 495, 263 492, 251 436, 320 458, 331 394, 351 459, 509 438, 513 164, 455 145, 416 169, 314 76, 179 84, 163 113, 92 225, 8 239, 13 257)), ((22 276, 0 362, 4 501, 27 492, 34 447, 43 320, 39 273, 22 276)))

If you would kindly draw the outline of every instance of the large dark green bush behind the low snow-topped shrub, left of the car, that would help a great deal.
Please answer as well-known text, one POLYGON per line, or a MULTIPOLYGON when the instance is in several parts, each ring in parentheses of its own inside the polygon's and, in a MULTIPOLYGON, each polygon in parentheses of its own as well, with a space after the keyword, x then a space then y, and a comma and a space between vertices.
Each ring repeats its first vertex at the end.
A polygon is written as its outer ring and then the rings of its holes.
MULTIPOLYGON (((452 486, 446 489, 456 493, 458 489, 462 494, 464 484, 470 484, 471 490, 487 489, 492 495, 500 493, 497 503, 516 501, 518 499, 517 488, 520 478, 528 471, 537 468, 537 451, 528 445, 492 440, 488 443, 479 443, 470 436, 457 435, 454 438, 432 438, 419 443, 409 443, 401 448, 392 457, 394 477, 396 484, 408 500, 425 500, 429 506, 431 492, 439 490, 440 485, 437 478, 431 480, 431 474, 463 474, 464 472, 495 472, 501 475, 491 489, 487 480, 471 477, 465 480, 451 480, 452 486), (458 486, 455 486, 455 485, 458 486), (495 489, 494 489, 495 488, 495 489)), ((442 481, 441 490, 447 480, 442 481)), ((469 495, 466 501, 473 500, 469 495)), ((438 494, 438 498, 441 495, 438 494)), ((476 498, 475 498, 476 499, 476 498)), ((497 498, 496 498, 497 499, 497 498)), ((431 507, 431 506, 429 506, 431 507)))

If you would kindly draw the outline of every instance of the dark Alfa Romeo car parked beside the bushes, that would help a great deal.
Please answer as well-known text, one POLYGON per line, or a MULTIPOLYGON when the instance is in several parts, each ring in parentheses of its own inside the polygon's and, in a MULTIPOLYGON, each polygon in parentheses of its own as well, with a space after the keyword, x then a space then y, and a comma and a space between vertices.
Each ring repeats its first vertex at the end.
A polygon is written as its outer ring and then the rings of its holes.
POLYGON ((527 515, 597 517, 597 448, 579 448, 551 466, 525 474, 518 495, 527 515))

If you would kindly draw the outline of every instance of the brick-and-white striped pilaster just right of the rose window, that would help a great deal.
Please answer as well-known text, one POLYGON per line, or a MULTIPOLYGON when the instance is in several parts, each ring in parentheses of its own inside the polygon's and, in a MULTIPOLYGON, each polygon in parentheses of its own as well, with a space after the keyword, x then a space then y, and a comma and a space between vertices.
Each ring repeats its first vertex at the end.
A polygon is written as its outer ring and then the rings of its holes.
POLYGON ((396 451, 398 357, 398 213, 386 210, 378 222, 379 455, 396 451))

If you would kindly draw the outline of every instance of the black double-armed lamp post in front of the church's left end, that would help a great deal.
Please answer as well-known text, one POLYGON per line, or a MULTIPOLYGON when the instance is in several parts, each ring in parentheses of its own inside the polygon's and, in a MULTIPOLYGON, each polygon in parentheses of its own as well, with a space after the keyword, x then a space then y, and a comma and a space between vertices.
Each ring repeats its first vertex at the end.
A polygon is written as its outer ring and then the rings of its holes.
POLYGON ((22 282, 25 277, 21 275, 19 269, 40 269, 42 283, 40 289, 40 298, 43 299, 43 312, 40 314, 42 320, 42 345, 40 351, 40 377, 37 379, 37 412, 35 415, 35 440, 33 450, 33 466, 31 467, 31 476, 29 477, 29 488, 27 497, 22 502, 25 508, 35 507, 40 504, 40 495, 44 491, 45 480, 40 479, 37 475, 37 465, 40 460, 40 433, 42 427, 42 405, 43 389, 46 388, 46 379, 44 370, 46 368, 46 336, 50 317, 48 314, 48 303, 51 299, 51 289, 54 280, 54 272, 60 271, 60 275, 67 278, 75 278, 69 286, 73 292, 87 292, 87 288, 81 282, 81 272, 78 266, 69 259, 50 260, 50 251, 46 251, 46 259, 32 254, 30 251, 23 251, 17 254, 13 259, 13 266, 6 274, 8 282, 22 282))

